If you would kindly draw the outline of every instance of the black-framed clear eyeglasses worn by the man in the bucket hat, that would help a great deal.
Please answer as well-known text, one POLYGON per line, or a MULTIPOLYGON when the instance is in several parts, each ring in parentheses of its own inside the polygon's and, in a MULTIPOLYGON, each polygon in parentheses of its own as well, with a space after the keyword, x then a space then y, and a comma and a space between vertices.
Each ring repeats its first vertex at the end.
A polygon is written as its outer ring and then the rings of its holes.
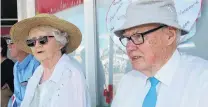
POLYGON ((160 25, 159 27, 156 27, 154 29, 148 30, 148 31, 143 32, 143 33, 135 33, 130 37, 121 36, 119 38, 119 40, 122 43, 122 45, 125 46, 125 47, 126 47, 127 43, 129 42, 129 40, 131 40, 135 45, 140 45, 140 44, 144 43, 144 36, 145 35, 147 35, 149 33, 152 33, 152 32, 155 32, 155 31, 157 31, 157 30, 159 30, 163 27, 167 27, 167 25, 160 25))

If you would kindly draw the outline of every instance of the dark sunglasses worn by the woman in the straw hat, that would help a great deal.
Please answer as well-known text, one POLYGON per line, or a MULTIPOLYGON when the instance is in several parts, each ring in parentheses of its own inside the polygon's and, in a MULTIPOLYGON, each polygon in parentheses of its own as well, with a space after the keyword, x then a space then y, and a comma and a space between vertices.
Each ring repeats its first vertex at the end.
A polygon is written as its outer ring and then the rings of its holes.
POLYGON ((34 47, 36 45, 36 41, 38 41, 39 44, 44 45, 44 44, 48 43, 49 37, 54 37, 54 36, 42 36, 37 39, 36 38, 28 39, 28 40, 26 40, 26 44, 29 47, 34 47))

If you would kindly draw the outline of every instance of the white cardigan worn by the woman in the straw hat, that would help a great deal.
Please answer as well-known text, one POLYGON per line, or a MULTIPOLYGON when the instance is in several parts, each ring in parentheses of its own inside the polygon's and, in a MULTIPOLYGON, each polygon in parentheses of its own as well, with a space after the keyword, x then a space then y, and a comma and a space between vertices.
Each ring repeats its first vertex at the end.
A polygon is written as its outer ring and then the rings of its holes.
POLYGON ((64 54, 56 64, 53 74, 44 84, 45 94, 40 103, 38 84, 42 74, 40 65, 28 82, 21 107, 91 107, 83 72, 69 56, 64 54))

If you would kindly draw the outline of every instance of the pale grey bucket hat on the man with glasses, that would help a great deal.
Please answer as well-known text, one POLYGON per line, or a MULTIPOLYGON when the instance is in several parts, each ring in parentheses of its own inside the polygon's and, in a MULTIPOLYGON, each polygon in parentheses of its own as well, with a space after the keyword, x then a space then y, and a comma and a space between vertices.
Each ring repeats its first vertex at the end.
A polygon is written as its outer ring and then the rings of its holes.
POLYGON ((126 12, 126 22, 114 33, 120 37, 126 29, 152 23, 180 29, 181 35, 188 33, 178 24, 173 0, 139 0, 130 4, 126 12))

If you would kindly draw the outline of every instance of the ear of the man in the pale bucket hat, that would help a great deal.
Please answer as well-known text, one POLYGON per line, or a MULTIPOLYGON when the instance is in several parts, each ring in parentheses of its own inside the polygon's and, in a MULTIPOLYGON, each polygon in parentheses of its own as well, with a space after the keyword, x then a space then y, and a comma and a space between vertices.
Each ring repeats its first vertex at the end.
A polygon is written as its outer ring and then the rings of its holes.
POLYGON ((176 41, 177 38, 177 30, 173 27, 167 27, 163 30, 165 33, 165 40, 167 45, 171 45, 176 41))

